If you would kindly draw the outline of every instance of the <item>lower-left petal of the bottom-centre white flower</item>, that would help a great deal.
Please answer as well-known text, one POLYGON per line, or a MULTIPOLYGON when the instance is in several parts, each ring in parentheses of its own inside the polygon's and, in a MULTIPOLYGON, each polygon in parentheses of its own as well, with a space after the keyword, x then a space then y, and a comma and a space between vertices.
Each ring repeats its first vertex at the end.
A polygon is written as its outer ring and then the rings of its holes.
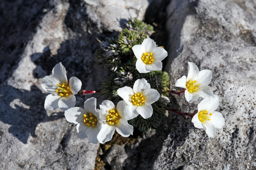
POLYGON ((115 132, 115 126, 109 125, 106 122, 102 124, 102 127, 97 135, 97 139, 100 143, 108 142, 112 139, 115 132))

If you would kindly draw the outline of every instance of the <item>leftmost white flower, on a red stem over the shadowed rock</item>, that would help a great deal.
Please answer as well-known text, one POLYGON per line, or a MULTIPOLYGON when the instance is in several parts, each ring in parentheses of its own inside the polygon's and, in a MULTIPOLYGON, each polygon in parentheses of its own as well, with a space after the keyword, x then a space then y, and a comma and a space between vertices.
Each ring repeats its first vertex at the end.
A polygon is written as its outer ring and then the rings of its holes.
POLYGON ((41 86, 46 92, 52 93, 45 99, 45 110, 55 110, 60 107, 65 111, 75 106, 74 94, 79 92, 82 82, 76 77, 71 77, 68 81, 66 69, 60 62, 53 67, 52 76, 43 78, 41 86))

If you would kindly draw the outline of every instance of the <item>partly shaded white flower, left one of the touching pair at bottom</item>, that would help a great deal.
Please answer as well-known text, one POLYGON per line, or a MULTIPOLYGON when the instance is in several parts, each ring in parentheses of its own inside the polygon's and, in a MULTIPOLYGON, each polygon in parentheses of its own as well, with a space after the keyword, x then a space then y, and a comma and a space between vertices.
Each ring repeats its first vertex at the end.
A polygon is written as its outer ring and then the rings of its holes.
POLYGON ((97 144, 97 135, 102 126, 102 114, 96 110, 96 99, 94 97, 84 102, 84 109, 72 107, 65 111, 65 118, 68 122, 77 124, 77 136, 87 138, 88 142, 97 144))

